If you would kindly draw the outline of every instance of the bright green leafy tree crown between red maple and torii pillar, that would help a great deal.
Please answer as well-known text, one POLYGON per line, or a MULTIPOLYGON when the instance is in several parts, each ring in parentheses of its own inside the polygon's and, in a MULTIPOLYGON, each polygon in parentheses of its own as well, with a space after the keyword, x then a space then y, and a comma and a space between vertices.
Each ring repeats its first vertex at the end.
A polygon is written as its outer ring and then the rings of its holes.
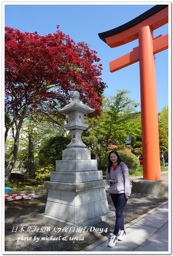
POLYGON ((98 125, 108 144, 112 141, 116 145, 124 144, 127 134, 133 135, 138 131, 136 107, 139 103, 127 97, 128 93, 130 91, 117 90, 116 96, 104 97, 103 114, 98 125))

